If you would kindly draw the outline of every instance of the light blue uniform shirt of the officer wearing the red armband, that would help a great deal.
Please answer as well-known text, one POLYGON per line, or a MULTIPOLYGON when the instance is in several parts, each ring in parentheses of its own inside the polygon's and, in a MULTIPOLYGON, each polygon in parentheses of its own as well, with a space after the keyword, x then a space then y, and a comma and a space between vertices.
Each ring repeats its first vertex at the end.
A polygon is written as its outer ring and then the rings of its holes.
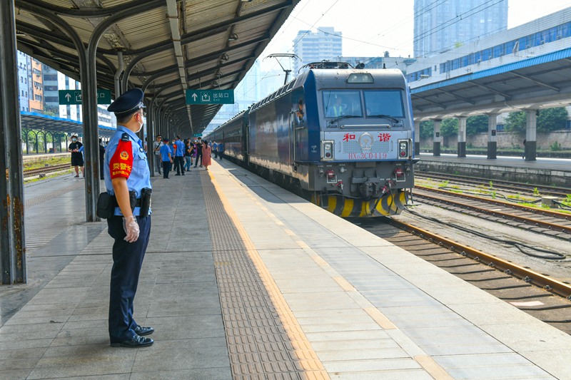
MULTIPOLYGON (((111 158, 113 158, 113 155, 117 150, 117 145, 119 141, 121 141, 123 133, 127 133, 129 135, 129 140, 131 141, 131 154, 133 157, 133 166, 131 168, 131 174, 127 178, 127 187, 129 191, 135 190, 137 198, 140 198, 141 189, 151 188, 151 172, 148 170, 147 156, 142 146, 143 142, 132 130, 124 127, 123 125, 117 125, 117 131, 113 134, 105 149, 105 165, 103 165, 105 173, 105 188, 109 194, 115 194, 113 183, 111 182, 110 165, 111 158)), ((136 207, 136 211, 137 209, 138 207, 136 207)), ((115 212, 115 214, 121 215, 117 214, 117 212, 115 212)))

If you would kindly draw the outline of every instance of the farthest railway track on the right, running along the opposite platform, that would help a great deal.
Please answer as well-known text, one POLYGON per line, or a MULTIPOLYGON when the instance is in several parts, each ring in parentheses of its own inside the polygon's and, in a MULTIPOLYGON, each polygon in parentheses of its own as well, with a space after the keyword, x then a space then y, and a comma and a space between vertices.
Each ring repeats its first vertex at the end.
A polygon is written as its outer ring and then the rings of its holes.
POLYGON ((453 175, 448 173, 434 173, 434 172, 416 172, 415 178, 423 180, 442 180, 442 181, 453 181, 454 183, 460 183, 465 185, 470 185, 474 187, 485 186, 488 187, 492 183, 493 188, 489 190, 505 190, 509 192, 518 192, 520 194, 534 194, 539 192, 541 195, 550 195, 553 197, 567 197, 570 194, 570 190, 557 188, 553 186, 545 185, 533 185, 526 183, 515 183, 504 180, 493 180, 486 178, 468 177, 465 175, 453 175))

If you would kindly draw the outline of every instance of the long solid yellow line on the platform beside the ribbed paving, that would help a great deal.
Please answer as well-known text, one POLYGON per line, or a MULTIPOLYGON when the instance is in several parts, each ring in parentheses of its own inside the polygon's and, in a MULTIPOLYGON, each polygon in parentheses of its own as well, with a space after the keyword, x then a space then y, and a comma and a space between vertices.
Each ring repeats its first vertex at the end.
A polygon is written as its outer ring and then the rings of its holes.
MULTIPOLYGON (((208 171, 208 175, 210 175, 211 183, 214 185, 216 192, 218 192, 218 196, 220 197, 224 210, 226 210, 226 215, 230 217, 233 225, 236 227, 236 230, 238 230, 248 255, 250 256, 254 266, 256 267, 256 270, 258 271, 264 287, 266 287, 266 290, 268 291, 268 295, 272 300, 272 304, 274 307, 276 307, 276 312, 283 324, 283 329, 285 329, 285 332, 288 334, 291 346, 294 349, 296 361, 305 371, 308 371, 304 373, 304 375, 308 379, 330 379, 329 374, 327 371, 325 371, 325 368, 323 367, 323 364, 319 360, 317 354, 315 354, 315 351, 313 351, 309 340, 307 337, 305 337, 305 333, 298 324, 297 319, 295 319, 293 312, 291 312, 288 303, 285 302, 285 298, 283 298, 278 285, 271 277, 271 274, 268 271, 266 265, 263 263, 258 250, 256 250, 256 247, 250 240, 248 233, 246 230, 244 230, 242 223, 238 219, 236 212, 234 212, 233 208, 228 202, 228 199, 226 198, 226 195, 224 195, 222 188, 220 185, 218 185, 218 182, 214 178, 214 174, 212 171, 208 171)), ((248 193, 246 192, 246 194, 248 193)), ((266 212, 269 213, 266 207, 263 208, 266 212)))

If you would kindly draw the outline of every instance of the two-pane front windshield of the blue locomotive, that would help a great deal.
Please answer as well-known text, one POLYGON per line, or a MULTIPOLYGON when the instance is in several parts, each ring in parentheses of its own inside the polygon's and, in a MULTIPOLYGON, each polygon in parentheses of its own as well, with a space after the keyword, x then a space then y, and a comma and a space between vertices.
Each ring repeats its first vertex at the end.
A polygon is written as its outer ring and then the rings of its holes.
POLYGON ((365 101, 365 116, 405 117, 401 90, 328 90, 323 91, 325 118, 363 117, 361 92, 365 101))

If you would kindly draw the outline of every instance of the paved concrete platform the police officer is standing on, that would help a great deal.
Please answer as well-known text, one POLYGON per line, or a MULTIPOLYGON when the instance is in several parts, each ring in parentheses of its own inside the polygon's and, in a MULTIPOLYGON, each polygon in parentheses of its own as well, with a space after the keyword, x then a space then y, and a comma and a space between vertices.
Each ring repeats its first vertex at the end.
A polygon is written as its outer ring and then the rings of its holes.
POLYGON ((153 180, 135 317, 155 344, 111 348, 112 240, 82 185, 26 188, 0 379, 571 379, 567 334, 218 160, 153 180))

